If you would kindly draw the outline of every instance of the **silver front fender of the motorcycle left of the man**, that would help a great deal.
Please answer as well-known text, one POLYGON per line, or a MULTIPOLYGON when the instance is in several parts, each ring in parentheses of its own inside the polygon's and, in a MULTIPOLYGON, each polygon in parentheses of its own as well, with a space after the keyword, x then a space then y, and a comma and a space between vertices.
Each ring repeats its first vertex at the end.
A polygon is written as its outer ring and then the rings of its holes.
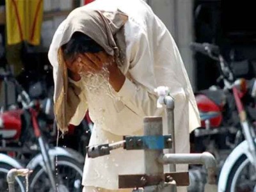
MULTIPOLYGON (((72 159, 75 159, 77 162, 81 164, 84 163, 84 157, 81 154, 79 154, 79 152, 76 152, 76 150, 73 150, 72 148, 54 147, 48 150, 48 152, 52 163, 52 167, 54 167, 53 164, 55 163, 54 159, 56 156, 57 159, 58 156, 71 157, 72 159)), ((42 166, 43 168, 45 167, 42 154, 38 154, 33 159, 31 159, 26 168, 28 168, 29 170, 34 170, 38 165, 42 166)))

